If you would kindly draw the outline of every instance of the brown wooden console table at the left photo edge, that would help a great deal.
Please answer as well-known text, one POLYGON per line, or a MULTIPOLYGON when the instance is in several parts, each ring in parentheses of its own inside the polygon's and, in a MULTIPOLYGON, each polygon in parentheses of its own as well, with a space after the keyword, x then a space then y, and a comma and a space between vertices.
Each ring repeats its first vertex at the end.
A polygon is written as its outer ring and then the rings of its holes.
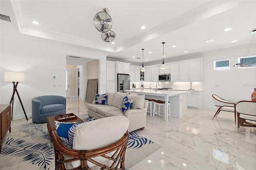
POLYGON ((11 132, 11 104, 0 105, 0 127, 1 127, 1 140, 0 140, 0 153, 2 152, 2 142, 7 131, 11 132))

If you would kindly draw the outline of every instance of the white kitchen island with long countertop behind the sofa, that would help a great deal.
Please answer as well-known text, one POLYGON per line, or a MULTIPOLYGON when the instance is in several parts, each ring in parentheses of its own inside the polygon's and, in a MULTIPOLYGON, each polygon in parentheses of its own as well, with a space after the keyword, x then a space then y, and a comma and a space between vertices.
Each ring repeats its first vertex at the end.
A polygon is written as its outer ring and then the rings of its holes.
POLYGON ((145 95, 145 98, 165 101, 164 105, 164 120, 168 122, 167 108, 168 101, 171 105, 171 117, 181 118, 182 109, 186 111, 188 91, 169 91, 169 90, 155 90, 155 89, 133 89, 125 90, 126 93, 135 93, 138 95, 145 95), (182 107, 183 106, 183 107, 182 107))

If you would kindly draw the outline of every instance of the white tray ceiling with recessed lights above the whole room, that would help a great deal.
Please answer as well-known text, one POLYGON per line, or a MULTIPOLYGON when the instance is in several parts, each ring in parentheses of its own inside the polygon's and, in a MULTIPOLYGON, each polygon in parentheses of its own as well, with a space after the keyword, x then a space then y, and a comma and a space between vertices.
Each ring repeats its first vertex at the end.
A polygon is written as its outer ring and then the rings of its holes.
POLYGON ((256 29, 255 0, 11 0, 11 4, 9 12, 21 34, 131 62, 142 62, 132 58, 142 58, 142 48, 144 63, 161 60, 162 42, 166 59, 245 45, 256 29), (103 8, 112 17, 115 44, 103 42, 94 28, 94 15, 103 8), (39 25, 32 24, 34 20, 39 25), (232 30, 224 32, 225 28, 232 30), (204 42, 211 38, 215 42, 204 42))

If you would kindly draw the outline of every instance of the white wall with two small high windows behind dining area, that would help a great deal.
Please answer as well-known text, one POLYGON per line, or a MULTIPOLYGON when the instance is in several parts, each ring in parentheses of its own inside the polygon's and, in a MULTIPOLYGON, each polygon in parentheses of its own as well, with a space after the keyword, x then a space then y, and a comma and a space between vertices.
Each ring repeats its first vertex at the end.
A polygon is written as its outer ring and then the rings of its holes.
MULTIPOLYGON (((212 94, 224 99, 248 99, 256 88, 256 68, 238 69, 238 57, 244 57, 248 45, 204 54, 204 107, 213 109, 212 94), (214 71, 213 61, 230 59, 230 70, 214 71)), ((253 44, 249 56, 256 55, 253 44)))

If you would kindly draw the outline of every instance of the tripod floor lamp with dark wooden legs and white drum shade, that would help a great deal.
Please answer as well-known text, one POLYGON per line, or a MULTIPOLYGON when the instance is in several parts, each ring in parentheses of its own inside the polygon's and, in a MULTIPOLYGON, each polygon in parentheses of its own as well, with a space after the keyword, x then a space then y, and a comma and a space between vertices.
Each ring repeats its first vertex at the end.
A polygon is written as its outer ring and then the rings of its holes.
POLYGON ((11 101, 10 101, 10 104, 12 103, 12 112, 11 112, 12 115, 13 115, 14 95, 15 95, 15 93, 17 93, 18 98, 20 100, 20 104, 21 104, 23 112, 24 112, 24 115, 25 115, 25 117, 26 117, 26 119, 28 121, 28 117, 26 115, 25 109, 24 109, 22 101, 20 99, 20 95, 19 95, 18 90, 17 90, 18 83, 19 82, 24 82, 24 73, 20 73, 20 72, 4 72, 4 81, 12 82, 12 84, 13 84, 12 98, 11 98, 11 101))

